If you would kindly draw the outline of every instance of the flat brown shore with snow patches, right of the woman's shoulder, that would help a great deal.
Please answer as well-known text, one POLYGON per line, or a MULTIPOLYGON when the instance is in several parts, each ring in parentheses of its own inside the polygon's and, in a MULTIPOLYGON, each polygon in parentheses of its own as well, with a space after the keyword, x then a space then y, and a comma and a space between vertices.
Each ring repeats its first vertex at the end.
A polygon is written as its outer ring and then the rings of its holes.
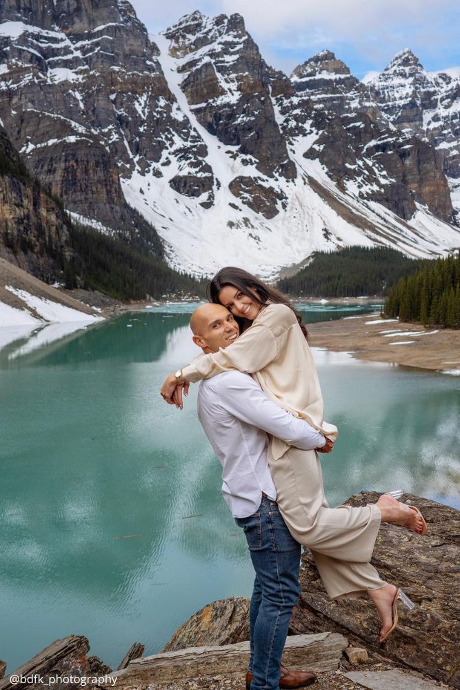
POLYGON ((356 359, 460 375, 460 330, 360 315, 307 324, 310 346, 356 359))

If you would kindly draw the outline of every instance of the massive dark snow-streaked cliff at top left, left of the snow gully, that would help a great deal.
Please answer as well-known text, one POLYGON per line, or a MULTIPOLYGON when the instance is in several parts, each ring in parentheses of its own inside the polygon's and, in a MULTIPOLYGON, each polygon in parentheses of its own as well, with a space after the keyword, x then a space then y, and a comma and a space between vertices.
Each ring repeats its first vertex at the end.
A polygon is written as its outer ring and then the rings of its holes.
POLYGON ((134 170, 161 176, 169 148, 179 172, 181 158, 201 172, 203 143, 130 3, 11 2, 0 19, 3 124, 29 170, 70 210, 126 229, 120 179, 134 170))

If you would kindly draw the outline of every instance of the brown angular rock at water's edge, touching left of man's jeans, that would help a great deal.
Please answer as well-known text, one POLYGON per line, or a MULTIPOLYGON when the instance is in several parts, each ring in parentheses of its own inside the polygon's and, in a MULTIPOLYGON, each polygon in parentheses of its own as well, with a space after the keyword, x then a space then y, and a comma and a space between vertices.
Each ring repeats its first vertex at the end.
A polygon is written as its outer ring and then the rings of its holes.
POLYGON ((163 651, 215 647, 249 640, 249 599, 230 597, 194 613, 172 635, 163 651))

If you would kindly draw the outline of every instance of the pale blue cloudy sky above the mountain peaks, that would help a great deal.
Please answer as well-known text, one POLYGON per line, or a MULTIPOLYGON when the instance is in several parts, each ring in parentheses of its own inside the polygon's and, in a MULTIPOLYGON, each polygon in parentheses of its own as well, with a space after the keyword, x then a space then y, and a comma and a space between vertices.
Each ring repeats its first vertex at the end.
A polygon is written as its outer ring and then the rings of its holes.
POLYGON ((149 33, 200 10, 242 14, 272 67, 288 75, 328 48, 362 79, 410 48, 428 71, 460 66, 459 0, 131 0, 149 33))

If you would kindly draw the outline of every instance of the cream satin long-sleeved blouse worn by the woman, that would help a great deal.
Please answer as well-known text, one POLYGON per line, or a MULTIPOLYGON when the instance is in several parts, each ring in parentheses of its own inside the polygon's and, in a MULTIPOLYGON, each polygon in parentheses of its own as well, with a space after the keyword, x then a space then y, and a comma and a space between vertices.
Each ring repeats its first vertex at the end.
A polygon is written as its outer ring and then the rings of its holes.
MULTIPOLYGON (((323 419, 323 396, 310 347, 286 304, 264 307, 230 346, 202 355, 183 367, 182 373, 197 382, 229 369, 252 374, 271 400, 333 441, 337 438, 337 426, 323 419)), ((289 448, 277 438, 270 439, 270 446, 274 460, 289 448)))

